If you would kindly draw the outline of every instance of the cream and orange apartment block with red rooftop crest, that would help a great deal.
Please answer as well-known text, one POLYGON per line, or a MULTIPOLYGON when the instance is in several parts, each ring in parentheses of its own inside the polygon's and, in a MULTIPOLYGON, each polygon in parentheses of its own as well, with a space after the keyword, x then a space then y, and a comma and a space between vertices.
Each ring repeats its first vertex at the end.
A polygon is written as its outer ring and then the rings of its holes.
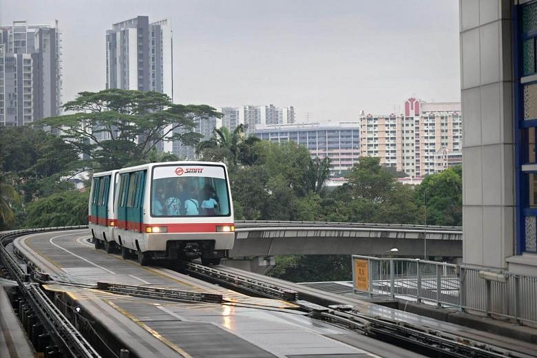
POLYGON ((360 116, 360 153, 412 177, 436 173, 462 163, 461 125, 460 103, 409 98, 403 114, 360 116))

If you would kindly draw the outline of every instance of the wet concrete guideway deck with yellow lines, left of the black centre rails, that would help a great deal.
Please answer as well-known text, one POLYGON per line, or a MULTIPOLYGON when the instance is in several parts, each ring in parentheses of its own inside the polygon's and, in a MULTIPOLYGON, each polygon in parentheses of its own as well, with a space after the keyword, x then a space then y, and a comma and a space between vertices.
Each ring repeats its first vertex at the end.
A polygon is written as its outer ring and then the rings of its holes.
POLYGON ((130 357, 420 357, 312 319, 296 304, 139 266, 95 250, 88 239, 87 230, 32 233, 12 245, 48 273, 44 279, 52 281, 43 287, 67 316, 94 322, 93 330, 78 326, 101 351, 127 348, 130 357), (210 293, 222 296, 222 303, 132 297, 97 290, 96 282, 210 293))

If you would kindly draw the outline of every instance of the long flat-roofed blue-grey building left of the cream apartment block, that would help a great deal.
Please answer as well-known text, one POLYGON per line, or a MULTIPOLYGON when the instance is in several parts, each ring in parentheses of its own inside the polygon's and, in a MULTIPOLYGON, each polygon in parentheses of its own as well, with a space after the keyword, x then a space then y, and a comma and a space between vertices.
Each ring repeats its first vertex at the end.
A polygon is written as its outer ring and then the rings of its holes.
POLYGON ((360 156, 359 123, 270 125, 258 127, 250 134, 273 143, 292 140, 307 147, 312 158, 330 158, 330 176, 341 176, 341 172, 349 170, 360 156))

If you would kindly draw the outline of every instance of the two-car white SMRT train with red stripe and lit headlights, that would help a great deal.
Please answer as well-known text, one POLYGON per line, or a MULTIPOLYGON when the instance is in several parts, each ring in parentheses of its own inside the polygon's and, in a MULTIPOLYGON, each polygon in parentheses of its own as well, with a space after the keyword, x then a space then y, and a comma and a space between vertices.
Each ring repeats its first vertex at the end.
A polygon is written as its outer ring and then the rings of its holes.
POLYGON ((227 167, 160 162, 95 173, 89 229, 96 249, 124 259, 220 264, 235 242, 227 167))

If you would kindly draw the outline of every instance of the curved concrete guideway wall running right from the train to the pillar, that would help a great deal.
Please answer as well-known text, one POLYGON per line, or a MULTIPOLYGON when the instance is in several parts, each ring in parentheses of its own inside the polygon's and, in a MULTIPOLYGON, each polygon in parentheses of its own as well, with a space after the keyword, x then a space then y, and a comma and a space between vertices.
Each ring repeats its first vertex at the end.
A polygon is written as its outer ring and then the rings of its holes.
POLYGON ((462 257, 461 227, 348 222, 238 221, 231 258, 277 255, 462 257))

